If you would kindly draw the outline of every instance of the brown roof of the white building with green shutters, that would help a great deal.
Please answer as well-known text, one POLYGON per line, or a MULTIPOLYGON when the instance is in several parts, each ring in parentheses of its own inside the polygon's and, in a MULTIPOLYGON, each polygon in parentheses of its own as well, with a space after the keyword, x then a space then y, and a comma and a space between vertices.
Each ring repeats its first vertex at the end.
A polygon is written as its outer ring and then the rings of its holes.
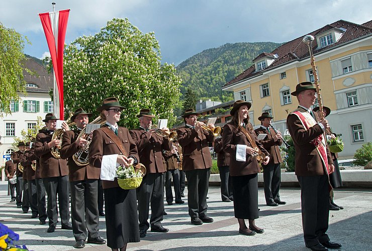
POLYGON ((53 75, 35 60, 27 58, 24 62, 24 68, 29 69, 32 73, 23 70, 23 78, 27 84, 34 84, 37 87, 26 87, 27 92, 48 93, 49 89, 53 89, 53 75))

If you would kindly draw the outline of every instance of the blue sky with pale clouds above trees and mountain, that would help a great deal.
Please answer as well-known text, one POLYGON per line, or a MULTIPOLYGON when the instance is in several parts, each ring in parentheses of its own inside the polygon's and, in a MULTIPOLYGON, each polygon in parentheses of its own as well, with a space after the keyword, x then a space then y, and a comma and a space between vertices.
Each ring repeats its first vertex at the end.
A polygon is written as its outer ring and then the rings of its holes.
POLYGON ((24 52, 49 53, 38 13, 70 9, 68 45, 98 33, 113 18, 128 18, 143 33, 154 32, 162 63, 177 66, 226 43, 291 41, 338 20, 372 19, 370 0, 3 0, 0 22, 27 36, 24 52))

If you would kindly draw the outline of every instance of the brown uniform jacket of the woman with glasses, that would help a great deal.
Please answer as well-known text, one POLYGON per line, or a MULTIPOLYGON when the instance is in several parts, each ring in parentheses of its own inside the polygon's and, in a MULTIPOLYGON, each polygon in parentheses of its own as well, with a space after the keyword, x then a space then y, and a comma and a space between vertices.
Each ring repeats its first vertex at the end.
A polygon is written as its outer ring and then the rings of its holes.
MULTIPOLYGON (((129 130, 125 127, 118 127, 118 137, 123 143, 123 147, 129 156, 135 157, 139 161, 137 146, 129 134, 129 130)), ((89 145, 89 164, 96 168, 101 168, 102 156, 110 154, 119 154, 119 147, 115 142, 106 135, 100 128, 93 131, 93 137, 89 145)), ((104 189, 119 186, 117 178, 114 181, 102 180, 104 189)))

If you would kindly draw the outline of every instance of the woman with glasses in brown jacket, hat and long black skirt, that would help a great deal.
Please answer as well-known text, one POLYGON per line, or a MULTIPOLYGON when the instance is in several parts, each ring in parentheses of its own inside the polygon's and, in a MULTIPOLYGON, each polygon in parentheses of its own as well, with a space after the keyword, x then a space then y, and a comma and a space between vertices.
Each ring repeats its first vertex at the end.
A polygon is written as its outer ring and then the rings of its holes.
POLYGON ((130 166, 139 161, 137 146, 129 130, 117 124, 123 108, 116 98, 103 101, 97 111, 101 112, 101 117, 107 121, 106 127, 93 131, 89 146, 89 164, 101 168, 106 205, 107 245, 112 250, 126 250, 128 242, 140 241, 136 190, 120 188, 116 178, 118 165, 130 166), (114 139, 122 144, 120 147, 124 148, 124 153, 114 139))

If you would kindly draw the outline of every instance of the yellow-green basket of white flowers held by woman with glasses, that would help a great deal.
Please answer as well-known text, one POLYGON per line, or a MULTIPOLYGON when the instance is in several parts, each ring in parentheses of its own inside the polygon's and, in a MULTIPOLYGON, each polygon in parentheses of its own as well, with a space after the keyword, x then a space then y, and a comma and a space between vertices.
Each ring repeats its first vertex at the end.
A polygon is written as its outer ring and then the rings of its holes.
POLYGON ((133 165, 129 167, 122 165, 118 166, 116 169, 116 174, 118 175, 118 183, 121 188, 128 190, 135 189, 140 186, 142 177, 146 173, 146 168, 142 164, 139 165, 139 168, 137 168, 137 166, 134 168, 133 165))

